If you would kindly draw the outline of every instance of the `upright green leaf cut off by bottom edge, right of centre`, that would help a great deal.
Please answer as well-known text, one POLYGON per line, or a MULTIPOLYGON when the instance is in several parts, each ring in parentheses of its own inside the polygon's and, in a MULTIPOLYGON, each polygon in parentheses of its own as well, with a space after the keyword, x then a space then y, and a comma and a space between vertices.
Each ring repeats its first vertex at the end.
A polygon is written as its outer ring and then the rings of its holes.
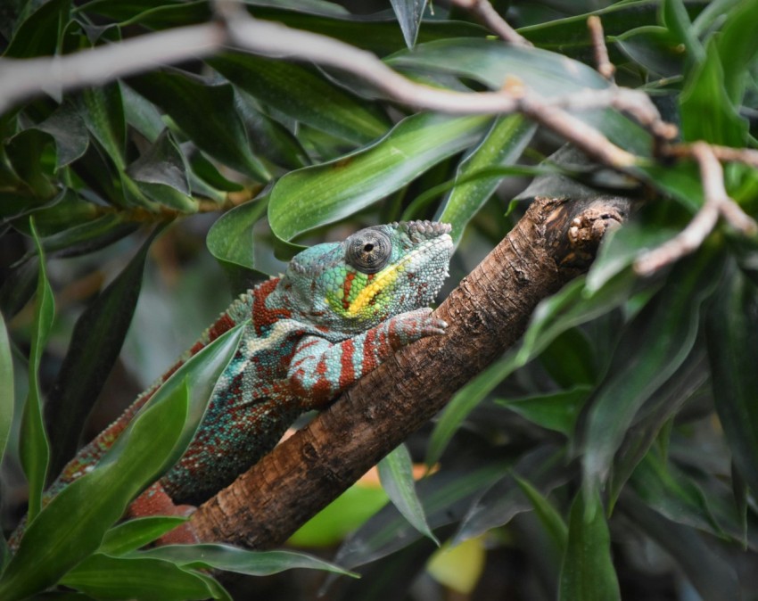
POLYGON ((597 492, 588 499, 580 490, 573 499, 558 598, 560 601, 621 599, 611 560, 606 515, 597 492))

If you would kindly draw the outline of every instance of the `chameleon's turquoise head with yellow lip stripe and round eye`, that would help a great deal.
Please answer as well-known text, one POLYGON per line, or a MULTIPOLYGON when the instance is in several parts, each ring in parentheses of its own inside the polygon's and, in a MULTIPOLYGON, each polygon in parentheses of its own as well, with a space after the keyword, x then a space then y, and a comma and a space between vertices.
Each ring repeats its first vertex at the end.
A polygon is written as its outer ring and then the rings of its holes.
POLYGON ((433 221, 392 223, 302 251, 284 276, 294 306, 311 323, 344 333, 425 307, 448 276, 449 231, 433 221))

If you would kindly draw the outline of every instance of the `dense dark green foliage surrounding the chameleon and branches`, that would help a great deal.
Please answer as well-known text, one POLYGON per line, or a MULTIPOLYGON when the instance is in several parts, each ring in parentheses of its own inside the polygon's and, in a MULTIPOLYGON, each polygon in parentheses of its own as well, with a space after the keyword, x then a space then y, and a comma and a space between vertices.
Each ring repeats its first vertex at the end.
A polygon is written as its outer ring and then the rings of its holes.
MULTIPOLYGON (((498 89, 512 77, 547 99, 610 86, 593 69, 586 19, 595 10, 617 82, 646 90, 681 141, 756 147, 756 0, 493 3, 535 48, 487 39, 460 9, 435 3, 422 18, 418 0, 393 1, 394 14, 378 3, 362 17, 318 0, 245 4, 256 18, 340 39, 434 86, 498 89)), ((204 23, 211 9, 204 0, 5 3, 0 52, 71 54, 204 23)), ((477 599, 627 601, 683 598, 688 588, 704 601, 758 598, 756 241, 720 222, 687 258, 636 275, 635 260, 702 207, 700 174, 694 161, 656 161, 652 137, 627 114, 576 116, 639 158, 624 177, 566 152, 535 168, 560 143, 535 136, 521 115, 415 112, 354 76, 228 49, 103 86, 51 86, 8 108, 0 451, 9 472, 0 498, 11 531, 22 513, 11 475, 22 465, 29 525, 15 556, 0 546, 0 597, 62 584, 80 593, 51 598, 226 599, 204 570, 334 570, 300 554, 220 545, 144 551, 177 519, 114 525, 182 452, 235 333, 170 380, 102 465, 44 508, 41 490, 103 387, 106 408, 114 391, 136 391, 119 380, 122 364, 148 383, 230 301, 209 256, 240 290, 280 271, 295 243, 439 218, 458 244, 455 285, 513 225, 508 202, 536 176, 531 191, 610 187, 639 199, 639 210, 607 236, 588 276, 540 304, 515 349, 408 440, 409 453, 385 460, 382 482, 400 511, 384 507, 331 554, 366 576, 330 594, 422 598, 408 587, 432 540, 474 539, 490 554, 477 599), (93 279, 103 288, 96 297, 93 279), (185 338, 169 352, 177 332, 185 338), (433 468, 416 484, 411 457, 433 468), (519 567, 493 567, 503 557, 519 567), (512 574, 500 589, 489 584, 493 569, 512 574)), ((725 183, 758 217, 758 169, 725 164, 725 183)), ((293 598, 292 582, 308 586, 294 573, 276 581, 281 598, 293 598)), ((260 597, 277 598, 271 589, 260 597)))

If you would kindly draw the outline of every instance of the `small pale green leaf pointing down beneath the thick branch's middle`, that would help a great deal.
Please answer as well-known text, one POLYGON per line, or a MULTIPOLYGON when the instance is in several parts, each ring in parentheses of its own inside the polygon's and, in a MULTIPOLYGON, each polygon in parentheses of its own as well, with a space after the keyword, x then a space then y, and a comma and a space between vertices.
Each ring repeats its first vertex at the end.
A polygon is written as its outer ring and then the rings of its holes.
POLYGON ((440 541, 434 536, 426 523, 424 506, 416 496, 416 486, 413 479, 413 463, 410 453, 404 444, 394 449, 387 457, 379 462, 379 479, 382 488, 387 493, 398 511, 411 523, 417 531, 432 539, 437 545, 440 541))

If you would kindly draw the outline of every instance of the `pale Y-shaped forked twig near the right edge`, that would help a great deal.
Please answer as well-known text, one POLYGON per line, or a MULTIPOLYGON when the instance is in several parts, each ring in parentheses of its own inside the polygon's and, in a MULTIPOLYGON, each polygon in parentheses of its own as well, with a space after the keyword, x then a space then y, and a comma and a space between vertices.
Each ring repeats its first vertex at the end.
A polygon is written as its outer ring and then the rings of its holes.
POLYGON ((745 235, 758 233, 758 224, 729 198, 724 186, 724 171, 710 144, 696 142, 689 146, 692 157, 700 169, 704 202, 696 216, 666 243, 642 255, 634 264, 641 276, 649 276, 660 268, 696 251, 713 231, 719 217, 745 235))

